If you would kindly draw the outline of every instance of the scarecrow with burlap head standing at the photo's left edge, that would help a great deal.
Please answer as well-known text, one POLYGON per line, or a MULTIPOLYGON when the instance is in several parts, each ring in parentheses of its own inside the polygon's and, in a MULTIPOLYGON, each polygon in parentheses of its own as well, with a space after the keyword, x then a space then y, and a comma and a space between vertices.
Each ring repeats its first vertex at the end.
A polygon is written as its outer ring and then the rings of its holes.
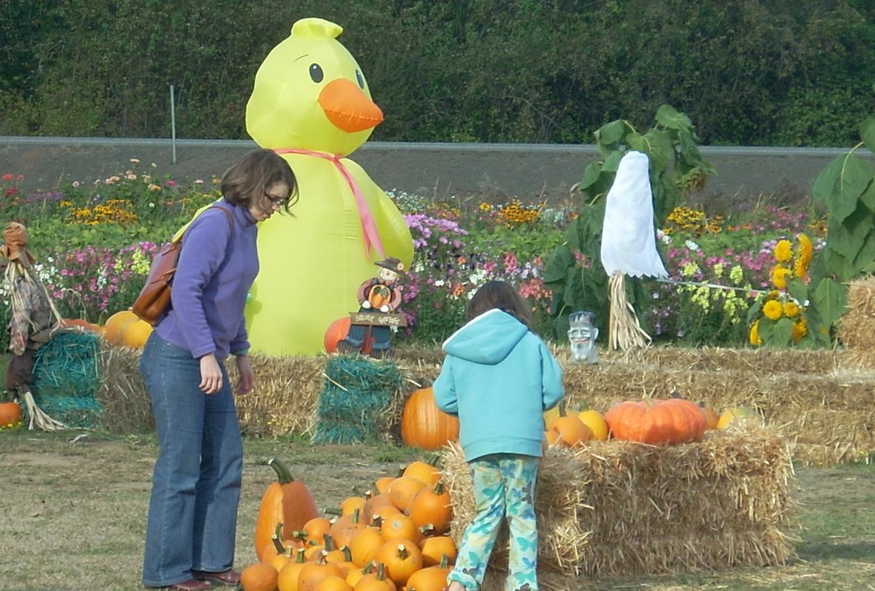
POLYGON ((6 390, 15 401, 24 399, 30 417, 29 429, 33 429, 34 425, 44 431, 66 428, 66 425, 45 414, 31 394, 34 355, 60 326, 60 315, 52 305, 45 285, 33 272, 33 264, 37 259, 25 248, 27 229, 18 222, 10 222, 3 236, 0 270, 4 271, 6 284, 9 285, 11 308, 11 355, 6 368, 6 390))

